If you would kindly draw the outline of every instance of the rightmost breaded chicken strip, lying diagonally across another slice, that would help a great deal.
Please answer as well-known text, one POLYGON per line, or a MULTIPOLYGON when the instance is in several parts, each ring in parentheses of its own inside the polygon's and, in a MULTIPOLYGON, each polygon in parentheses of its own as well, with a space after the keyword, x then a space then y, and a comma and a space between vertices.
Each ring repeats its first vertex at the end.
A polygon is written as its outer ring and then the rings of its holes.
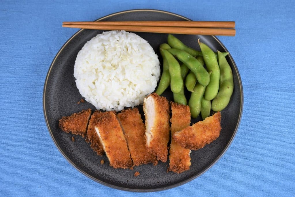
POLYGON ((219 137, 221 131, 221 113, 205 118, 193 126, 184 128, 173 134, 173 139, 184 148, 197 150, 219 137))

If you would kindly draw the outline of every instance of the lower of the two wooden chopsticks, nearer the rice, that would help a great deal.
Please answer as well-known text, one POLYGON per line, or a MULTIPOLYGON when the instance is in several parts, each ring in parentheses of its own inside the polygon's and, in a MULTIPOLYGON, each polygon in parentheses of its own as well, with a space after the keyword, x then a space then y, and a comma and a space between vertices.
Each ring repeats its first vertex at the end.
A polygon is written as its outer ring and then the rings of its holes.
POLYGON ((200 28, 200 27, 155 27, 127 25, 62 25, 63 27, 92 29, 92 30, 125 30, 132 32, 173 33, 193 35, 224 35, 235 36, 235 29, 200 28))

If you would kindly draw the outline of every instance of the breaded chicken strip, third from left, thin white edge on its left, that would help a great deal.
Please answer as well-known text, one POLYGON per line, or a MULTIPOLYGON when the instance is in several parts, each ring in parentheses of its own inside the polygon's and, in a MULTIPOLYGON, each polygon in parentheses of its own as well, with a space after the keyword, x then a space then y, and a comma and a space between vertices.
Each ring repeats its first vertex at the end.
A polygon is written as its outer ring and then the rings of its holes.
POLYGON ((110 161, 110 166, 114 168, 131 167, 130 152, 115 113, 110 111, 101 113, 94 129, 110 161))

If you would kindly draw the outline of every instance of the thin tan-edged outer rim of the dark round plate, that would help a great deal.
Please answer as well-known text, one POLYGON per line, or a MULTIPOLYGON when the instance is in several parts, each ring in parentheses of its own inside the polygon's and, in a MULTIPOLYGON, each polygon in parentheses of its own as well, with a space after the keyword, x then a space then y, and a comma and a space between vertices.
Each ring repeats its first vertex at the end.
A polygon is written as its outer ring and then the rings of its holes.
MULTIPOLYGON (((115 12, 113 14, 109 14, 109 15, 106 15, 104 17, 101 17, 95 21, 100 21, 100 20, 103 20, 103 19, 106 19, 108 17, 111 17, 111 16, 114 16, 114 15, 117 15, 117 14, 123 14, 123 13, 128 13, 128 12, 142 12, 142 11, 148 11, 148 12, 161 12, 161 13, 166 13, 166 14, 171 14, 171 15, 174 15, 174 16, 177 16, 177 17, 181 17, 185 20, 188 20, 188 21, 191 21, 191 19, 188 19, 186 17, 183 17, 179 14, 175 14, 175 13, 172 13, 172 12, 167 12, 167 11, 163 11, 163 10, 156 10, 156 9, 132 9, 132 10, 126 10, 126 11, 121 11, 121 12, 115 12)), ((91 175, 87 174, 86 172, 84 172, 83 170, 81 170, 78 166, 76 166, 68 157, 67 155, 61 150, 61 148, 59 147, 58 143, 55 141, 55 138, 53 136, 53 133, 49 127, 49 123, 48 123, 48 119, 47 119, 47 114, 46 114, 46 109, 45 109, 45 95, 46 95, 46 87, 47 87, 47 81, 48 81, 48 78, 49 78, 49 75, 50 75, 50 72, 51 72, 51 69, 53 68, 53 65, 55 63, 55 60, 56 58, 59 56, 60 52, 63 50, 63 48, 78 34, 80 33, 81 31, 83 31, 83 29, 80 29, 79 31, 77 31, 74 35, 71 36, 71 38, 69 38, 65 44, 63 44, 63 46, 60 48, 60 50, 58 51, 58 53, 56 54, 56 56, 54 57, 52 63, 50 64, 50 67, 48 69, 48 72, 47 72, 47 75, 46 75, 46 79, 45 79, 45 82, 44 82, 44 88, 43 88, 43 113, 44 113, 44 118, 45 118, 45 122, 46 122, 46 125, 47 125, 47 128, 48 128, 48 131, 50 133, 50 136, 55 144, 55 146, 58 148, 59 152, 63 155, 63 157, 65 157, 65 159, 73 166, 75 167, 79 172, 81 172, 83 175, 87 176, 88 178, 98 182, 98 183, 101 183, 102 185, 105 185, 105 186, 108 186, 108 187, 111 187, 111 188, 114 188, 114 189, 119 189, 119 190, 124 190, 124 191, 132 191, 132 192, 155 192, 155 191, 163 191, 163 190, 167 190, 167 189, 170 189, 170 188, 174 188, 174 187, 177 187, 179 185, 183 185, 185 183, 188 183, 189 181, 201 176, 204 172, 206 172, 209 168, 211 168, 222 156, 223 154, 227 151, 227 149, 229 148, 230 144, 232 143, 233 139, 235 138, 235 135, 237 133, 237 130, 239 128, 239 125, 240 125, 240 122, 241 122, 241 118, 242 118, 242 111, 243 111, 243 102, 244 102, 244 98, 243 98, 243 87, 242 87, 242 81, 241 81, 241 76, 240 76, 240 73, 237 69, 237 65, 235 64, 235 61, 232 59, 232 56, 229 55, 228 57, 230 58, 230 61, 232 61, 233 63, 233 66, 234 66, 234 69, 235 71, 237 72, 237 77, 238 77, 238 80, 239 80, 239 83, 240 83, 240 91, 241 91, 241 105, 240 105, 240 114, 239 114, 239 118, 238 118, 238 122, 237 122, 237 126, 235 128, 235 131, 230 139, 230 141, 228 142, 227 146, 224 148, 224 150, 219 154, 219 156, 209 165, 207 166, 203 171, 201 171, 200 173, 196 174, 195 176, 191 177, 191 178, 188 178, 184 181, 181 181, 179 183, 176 183, 176 184, 173 184, 173 185, 169 185, 169 186, 166 186, 166 187, 160 187, 160 188, 154 188, 154 189, 132 189, 132 188, 124 188, 124 187, 120 187, 120 186, 116 186, 116 185, 112 185, 112 184, 109 184, 109 183, 105 183, 99 179, 96 179, 94 177, 92 177, 91 175)), ((227 52, 227 48, 219 41, 219 39, 216 37, 216 36, 213 36, 212 37, 222 46, 222 48, 227 52)))

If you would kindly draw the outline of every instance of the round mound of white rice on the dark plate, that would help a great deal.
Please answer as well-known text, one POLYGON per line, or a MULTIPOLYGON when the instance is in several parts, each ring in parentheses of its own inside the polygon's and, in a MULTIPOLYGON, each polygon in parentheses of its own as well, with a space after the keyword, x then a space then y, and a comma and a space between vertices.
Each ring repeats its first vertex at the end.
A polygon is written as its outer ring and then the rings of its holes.
POLYGON ((77 88, 101 110, 142 104, 160 76, 160 62, 150 44, 125 31, 96 35, 79 51, 74 66, 77 88))

